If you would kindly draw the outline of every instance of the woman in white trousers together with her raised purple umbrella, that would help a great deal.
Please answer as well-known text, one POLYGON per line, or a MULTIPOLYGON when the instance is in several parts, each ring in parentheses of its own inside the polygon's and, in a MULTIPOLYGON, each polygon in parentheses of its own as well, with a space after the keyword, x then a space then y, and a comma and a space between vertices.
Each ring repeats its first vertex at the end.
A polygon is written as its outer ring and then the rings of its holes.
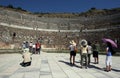
POLYGON ((112 41, 111 39, 102 39, 106 44, 106 69, 105 71, 109 72, 111 71, 111 66, 112 66, 112 54, 115 52, 113 51, 113 47, 117 48, 117 44, 112 41))

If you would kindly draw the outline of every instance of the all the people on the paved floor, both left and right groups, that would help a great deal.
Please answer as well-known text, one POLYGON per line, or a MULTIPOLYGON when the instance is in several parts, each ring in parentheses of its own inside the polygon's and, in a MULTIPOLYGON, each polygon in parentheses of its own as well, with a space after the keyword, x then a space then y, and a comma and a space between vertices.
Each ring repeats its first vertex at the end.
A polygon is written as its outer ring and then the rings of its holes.
MULTIPOLYGON (((22 44, 23 47, 23 62, 20 63, 20 65, 26 67, 31 65, 32 61, 32 54, 39 53, 40 54, 40 49, 41 49, 41 44, 37 41, 36 44, 33 44, 32 42, 28 43, 27 41, 23 42, 22 44)), ((94 64, 99 64, 99 51, 100 51, 100 45, 98 41, 95 41, 94 43, 91 44, 91 42, 86 41, 85 39, 80 41, 80 56, 81 56, 81 67, 85 66, 85 68, 88 67, 91 63, 91 54, 93 54, 94 58, 94 64)), ((78 51, 77 49, 77 44, 74 40, 70 41, 70 64, 75 65, 75 56, 76 52, 78 51)), ((107 42, 106 45, 106 71, 111 71, 111 65, 112 65, 112 53, 113 53, 113 48, 111 43, 107 42)))

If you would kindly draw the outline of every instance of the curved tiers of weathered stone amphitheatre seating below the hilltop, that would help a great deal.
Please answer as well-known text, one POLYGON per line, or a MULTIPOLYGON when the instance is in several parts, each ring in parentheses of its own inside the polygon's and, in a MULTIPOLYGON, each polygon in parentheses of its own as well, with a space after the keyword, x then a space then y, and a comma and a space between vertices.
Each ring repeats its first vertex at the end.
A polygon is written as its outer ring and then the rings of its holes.
MULTIPOLYGON (((76 18, 53 18, 37 17, 35 15, 22 14, 15 11, 0 8, 0 40, 1 32, 6 31, 5 39, 12 39, 12 33, 16 32, 15 43, 36 40, 42 37, 43 45, 51 45, 67 48, 69 40, 87 39, 90 41, 107 37, 118 40, 120 43, 120 13, 113 15, 76 17, 76 18), (49 43, 50 41, 50 43, 49 43)), ((12 40, 9 40, 12 43, 12 40)), ((100 43, 102 45, 102 42, 100 43)))

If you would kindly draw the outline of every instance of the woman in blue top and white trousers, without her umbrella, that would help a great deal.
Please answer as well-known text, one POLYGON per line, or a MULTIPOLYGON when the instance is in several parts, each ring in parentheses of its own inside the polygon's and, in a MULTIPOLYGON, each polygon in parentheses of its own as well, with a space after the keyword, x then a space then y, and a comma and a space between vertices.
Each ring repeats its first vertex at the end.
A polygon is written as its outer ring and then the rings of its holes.
POLYGON ((107 42, 107 48, 106 48, 106 71, 111 71, 111 65, 112 65, 112 46, 111 43, 107 42))

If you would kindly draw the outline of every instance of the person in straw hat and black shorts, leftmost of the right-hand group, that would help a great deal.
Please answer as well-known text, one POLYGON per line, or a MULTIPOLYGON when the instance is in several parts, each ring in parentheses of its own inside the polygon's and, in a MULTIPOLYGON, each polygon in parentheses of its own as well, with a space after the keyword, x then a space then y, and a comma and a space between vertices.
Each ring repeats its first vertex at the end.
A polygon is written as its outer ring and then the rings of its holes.
POLYGON ((70 64, 73 64, 73 65, 75 64, 75 56, 76 56, 75 48, 76 48, 76 43, 74 42, 74 40, 70 41, 70 46, 69 46, 70 64))

